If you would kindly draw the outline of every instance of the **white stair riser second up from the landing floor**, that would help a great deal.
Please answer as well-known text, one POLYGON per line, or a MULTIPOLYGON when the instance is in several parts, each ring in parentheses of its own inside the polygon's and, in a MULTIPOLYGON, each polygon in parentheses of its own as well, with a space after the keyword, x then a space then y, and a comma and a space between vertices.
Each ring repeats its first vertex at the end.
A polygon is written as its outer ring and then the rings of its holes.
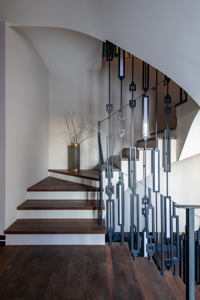
POLYGON ((93 219, 98 210, 18 210, 18 219, 93 219))

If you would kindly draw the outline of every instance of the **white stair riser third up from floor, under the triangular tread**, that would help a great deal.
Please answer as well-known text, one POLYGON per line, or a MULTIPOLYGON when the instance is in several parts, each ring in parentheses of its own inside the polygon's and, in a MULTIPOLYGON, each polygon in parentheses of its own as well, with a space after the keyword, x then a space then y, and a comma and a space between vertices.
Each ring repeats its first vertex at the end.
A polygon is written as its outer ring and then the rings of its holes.
POLYGON ((98 192, 27 192, 27 199, 98 199, 98 192))

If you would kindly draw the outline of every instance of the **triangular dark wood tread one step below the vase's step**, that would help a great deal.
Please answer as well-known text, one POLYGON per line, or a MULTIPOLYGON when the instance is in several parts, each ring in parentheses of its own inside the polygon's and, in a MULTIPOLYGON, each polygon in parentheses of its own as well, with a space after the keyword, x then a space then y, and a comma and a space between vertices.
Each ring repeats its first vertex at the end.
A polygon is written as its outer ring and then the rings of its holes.
POLYGON ((99 188, 48 176, 30 188, 27 188, 27 192, 29 191, 98 192, 99 188))

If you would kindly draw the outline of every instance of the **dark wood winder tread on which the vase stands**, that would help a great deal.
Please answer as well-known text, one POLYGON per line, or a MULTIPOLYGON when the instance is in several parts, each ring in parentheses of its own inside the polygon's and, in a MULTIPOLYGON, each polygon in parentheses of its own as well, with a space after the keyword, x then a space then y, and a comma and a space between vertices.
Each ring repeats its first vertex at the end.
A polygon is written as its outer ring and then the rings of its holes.
POLYGON ((99 181, 98 170, 81 169, 80 172, 71 172, 71 169, 49 169, 48 171, 99 181))

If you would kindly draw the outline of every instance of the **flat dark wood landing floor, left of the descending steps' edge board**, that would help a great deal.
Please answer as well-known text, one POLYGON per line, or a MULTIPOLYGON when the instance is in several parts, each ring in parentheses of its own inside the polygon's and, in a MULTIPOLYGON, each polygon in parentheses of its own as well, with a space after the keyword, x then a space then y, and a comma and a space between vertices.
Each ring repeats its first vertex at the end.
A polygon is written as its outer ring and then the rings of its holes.
POLYGON ((1 299, 110 299, 105 246, 10 247, 4 270, 0 257, 1 299))

